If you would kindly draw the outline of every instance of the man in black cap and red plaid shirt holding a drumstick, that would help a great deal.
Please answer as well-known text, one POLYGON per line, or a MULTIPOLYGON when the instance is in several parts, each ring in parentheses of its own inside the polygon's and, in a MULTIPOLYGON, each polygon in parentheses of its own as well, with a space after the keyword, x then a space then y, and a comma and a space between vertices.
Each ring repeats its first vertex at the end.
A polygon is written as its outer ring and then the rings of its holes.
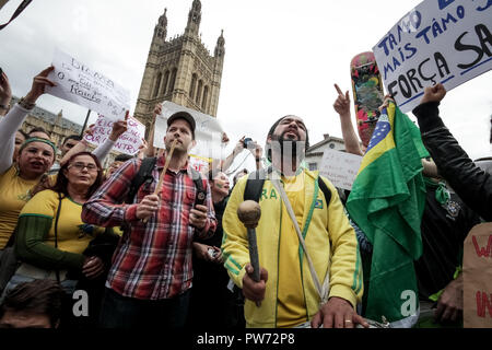
POLYGON ((197 188, 188 165, 188 151, 196 144, 195 127, 186 112, 167 119, 166 150, 175 139, 177 144, 159 195, 153 192, 167 152, 157 159, 153 180, 139 188, 131 205, 122 202, 139 172, 138 159, 125 163, 83 206, 84 222, 129 228, 116 248, 106 281, 103 327, 184 326, 192 279, 192 241, 195 235, 212 236, 216 226, 204 178, 206 206, 195 206, 197 188))

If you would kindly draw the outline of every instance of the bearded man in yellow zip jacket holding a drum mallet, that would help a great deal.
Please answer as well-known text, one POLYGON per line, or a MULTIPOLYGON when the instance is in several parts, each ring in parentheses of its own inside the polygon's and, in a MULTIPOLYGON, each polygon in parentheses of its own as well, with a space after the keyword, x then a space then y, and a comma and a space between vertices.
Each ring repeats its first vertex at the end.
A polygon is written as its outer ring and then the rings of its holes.
POLYGON ((294 224, 269 177, 258 200, 261 219, 256 229, 261 280, 251 279, 247 230, 237 217, 247 183, 247 177, 243 177, 234 187, 223 217, 222 250, 230 277, 246 298, 247 327, 296 327, 307 322, 313 327, 367 326, 355 313, 363 293, 355 232, 333 185, 320 179, 331 192, 327 201, 319 189, 318 174, 301 166, 307 145, 303 120, 285 116, 271 127, 266 151, 272 174, 280 177, 292 206, 319 281, 323 283, 329 273, 329 299, 320 305, 294 224))

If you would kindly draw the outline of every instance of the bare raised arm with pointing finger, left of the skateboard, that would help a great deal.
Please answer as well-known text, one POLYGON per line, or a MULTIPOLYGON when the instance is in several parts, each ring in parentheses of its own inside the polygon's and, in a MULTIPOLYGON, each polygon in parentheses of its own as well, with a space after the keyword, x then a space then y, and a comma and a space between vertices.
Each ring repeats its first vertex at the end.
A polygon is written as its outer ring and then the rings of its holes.
POLYGON ((338 97, 333 103, 333 108, 340 116, 340 126, 342 130, 342 138, 345 142, 345 151, 348 153, 364 155, 361 150, 358 136, 352 126, 352 119, 350 117, 350 96, 349 91, 344 94, 340 88, 335 84, 335 89, 338 92, 338 97))

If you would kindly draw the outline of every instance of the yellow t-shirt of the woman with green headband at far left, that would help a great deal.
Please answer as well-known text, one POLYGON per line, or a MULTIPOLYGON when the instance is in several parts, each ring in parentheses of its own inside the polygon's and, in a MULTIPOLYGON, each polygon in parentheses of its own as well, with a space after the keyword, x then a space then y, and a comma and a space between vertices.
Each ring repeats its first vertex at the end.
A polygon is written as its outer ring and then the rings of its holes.
POLYGON ((17 224, 19 213, 31 199, 31 189, 38 179, 23 179, 15 165, 0 175, 0 249, 5 247, 17 224))

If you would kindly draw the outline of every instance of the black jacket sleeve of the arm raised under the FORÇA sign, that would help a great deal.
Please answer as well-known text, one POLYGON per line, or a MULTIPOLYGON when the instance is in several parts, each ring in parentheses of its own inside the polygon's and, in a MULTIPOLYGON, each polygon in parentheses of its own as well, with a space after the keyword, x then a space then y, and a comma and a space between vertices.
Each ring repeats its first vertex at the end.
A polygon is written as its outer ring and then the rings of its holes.
POLYGON ((413 109, 422 140, 440 174, 461 200, 487 221, 492 221, 492 177, 475 165, 438 116, 438 103, 413 109))

